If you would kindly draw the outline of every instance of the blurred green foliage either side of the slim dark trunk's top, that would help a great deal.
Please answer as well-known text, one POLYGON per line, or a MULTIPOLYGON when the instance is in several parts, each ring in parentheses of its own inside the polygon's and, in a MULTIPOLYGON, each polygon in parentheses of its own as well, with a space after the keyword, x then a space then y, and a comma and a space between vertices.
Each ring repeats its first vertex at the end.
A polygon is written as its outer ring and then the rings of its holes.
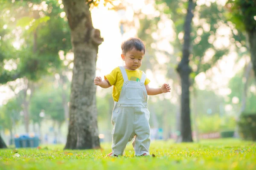
MULTIPOLYGON (((167 14, 174 23, 173 28, 176 36, 175 41, 171 42, 171 44, 175 48, 173 56, 179 58, 182 55, 180 51, 182 51, 183 39, 179 40, 178 35, 183 34, 184 31, 183 25, 184 18, 186 16, 186 8, 188 6, 187 2, 188 1, 181 0, 156 1, 157 5, 161 6, 159 10, 167 14)), ((211 6, 196 6, 193 13, 195 14, 194 18, 197 18, 198 20, 193 20, 192 32, 190 34, 192 45, 189 65, 192 67, 192 71, 194 72, 190 75, 192 84, 194 83, 195 77, 199 73, 206 72, 212 68, 218 62, 218 60, 229 51, 229 47, 218 48, 213 44, 213 42, 219 36, 217 34, 217 29, 220 28, 222 24, 228 26, 227 19, 223 15, 224 8, 215 2, 211 3, 211 6), (220 22, 222 22, 222 24, 219 24, 220 22), (209 29, 207 27, 209 27, 209 29), (210 36, 213 38, 213 42, 209 41, 210 36), (213 51, 213 55, 206 60, 204 58, 207 55, 207 50, 209 49, 213 51)), ((169 64, 170 63, 173 64, 175 62, 169 62, 169 64)), ((173 77, 173 75, 170 75, 170 77, 173 77)))

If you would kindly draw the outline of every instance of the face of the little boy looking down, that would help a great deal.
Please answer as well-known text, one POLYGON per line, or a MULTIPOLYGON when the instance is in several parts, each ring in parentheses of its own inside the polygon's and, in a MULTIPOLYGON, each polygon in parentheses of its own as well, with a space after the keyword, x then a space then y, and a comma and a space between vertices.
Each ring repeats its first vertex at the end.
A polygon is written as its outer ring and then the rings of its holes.
POLYGON ((122 59, 125 61, 125 66, 129 70, 136 70, 140 68, 142 64, 144 53, 133 48, 131 51, 128 51, 126 54, 121 54, 122 59))

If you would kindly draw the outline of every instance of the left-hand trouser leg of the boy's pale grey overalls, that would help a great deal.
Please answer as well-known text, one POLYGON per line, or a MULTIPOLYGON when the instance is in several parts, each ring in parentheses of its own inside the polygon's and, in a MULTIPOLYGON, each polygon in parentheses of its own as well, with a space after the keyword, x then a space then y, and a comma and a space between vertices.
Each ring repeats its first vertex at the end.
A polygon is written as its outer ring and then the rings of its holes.
POLYGON ((134 136, 134 108, 119 109, 120 113, 114 120, 112 130, 112 154, 123 155, 126 144, 134 136))

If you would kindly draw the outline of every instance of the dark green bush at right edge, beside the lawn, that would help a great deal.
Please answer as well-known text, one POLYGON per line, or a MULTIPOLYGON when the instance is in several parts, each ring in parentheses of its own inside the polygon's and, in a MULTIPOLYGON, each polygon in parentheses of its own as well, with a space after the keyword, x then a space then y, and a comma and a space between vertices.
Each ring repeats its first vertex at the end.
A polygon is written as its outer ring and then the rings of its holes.
POLYGON ((238 125, 243 139, 256 141, 256 113, 242 113, 238 125))

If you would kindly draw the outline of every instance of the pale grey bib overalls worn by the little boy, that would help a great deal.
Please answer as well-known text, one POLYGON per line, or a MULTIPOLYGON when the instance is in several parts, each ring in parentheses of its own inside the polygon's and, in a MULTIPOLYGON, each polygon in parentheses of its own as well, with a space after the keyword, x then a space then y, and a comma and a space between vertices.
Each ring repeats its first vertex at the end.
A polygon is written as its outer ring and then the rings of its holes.
POLYGON ((119 67, 124 84, 115 102, 112 113, 112 156, 123 155, 126 144, 134 138, 132 145, 135 155, 149 154, 150 126, 148 95, 145 88, 146 75, 143 73, 140 82, 129 81, 125 68, 119 67))

